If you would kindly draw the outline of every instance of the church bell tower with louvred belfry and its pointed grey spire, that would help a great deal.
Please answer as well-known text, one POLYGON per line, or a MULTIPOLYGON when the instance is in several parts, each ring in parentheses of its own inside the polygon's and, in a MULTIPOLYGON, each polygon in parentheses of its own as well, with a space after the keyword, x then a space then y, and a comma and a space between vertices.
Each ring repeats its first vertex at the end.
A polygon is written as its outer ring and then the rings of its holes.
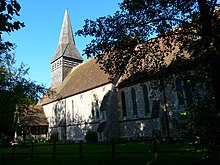
POLYGON ((76 48, 72 27, 66 9, 57 49, 51 60, 51 87, 59 86, 70 70, 83 62, 76 48))

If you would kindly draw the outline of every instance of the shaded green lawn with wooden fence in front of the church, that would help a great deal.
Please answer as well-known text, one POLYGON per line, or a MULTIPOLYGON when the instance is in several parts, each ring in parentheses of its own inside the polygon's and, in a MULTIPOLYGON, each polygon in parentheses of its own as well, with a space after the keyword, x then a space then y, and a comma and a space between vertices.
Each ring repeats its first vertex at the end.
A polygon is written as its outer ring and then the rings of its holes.
POLYGON ((53 157, 52 144, 35 144, 34 148, 16 147, 15 157, 13 148, 0 148, 1 165, 200 165, 220 164, 218 160, 205 159, 201 152, 185 152, 186 149, 193 150, 192 146, 186 144, 159 144, 159 154, 154 160, 153 145, 150 143, 120 143, 114 146, 115 157, 112 157, 112 145, 106 143, 83 144, 83 155, 80 157, 79 144, 57 144, 53 157), (31 151, 33 149, 33 155, 31 151), (161 152, 160 152, 161 151, 161 152), (179 152, 184 151, 184 152, 179 152))

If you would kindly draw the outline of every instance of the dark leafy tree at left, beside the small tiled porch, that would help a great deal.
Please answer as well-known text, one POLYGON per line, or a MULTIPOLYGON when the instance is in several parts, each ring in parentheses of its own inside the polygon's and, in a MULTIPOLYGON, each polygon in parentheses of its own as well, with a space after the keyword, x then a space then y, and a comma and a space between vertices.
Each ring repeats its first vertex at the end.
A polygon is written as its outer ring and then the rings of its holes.
POLYGON ((38 102, 45 88, 25 77, 28 68, 24 64, 15 68, 11 58, 6 63, 0 70, 0 133, 12 140, 18 116, 38 102))

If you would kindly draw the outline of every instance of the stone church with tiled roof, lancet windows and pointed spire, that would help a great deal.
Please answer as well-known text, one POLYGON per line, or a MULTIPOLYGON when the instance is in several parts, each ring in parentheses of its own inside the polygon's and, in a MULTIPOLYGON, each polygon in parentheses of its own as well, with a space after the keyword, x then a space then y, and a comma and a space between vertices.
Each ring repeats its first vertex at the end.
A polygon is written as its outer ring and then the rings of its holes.
POLYGON ((51 60, 51 87, 38 104, 49 123, 48 137, 59 140, 85 140, 88 132, 98 141, 178 136, 172 118, 184 112, 187 94, 182 83, 174 83, 164 95, 146 78, 111 81, 95 58, 83 61, 66 10, 51 60))

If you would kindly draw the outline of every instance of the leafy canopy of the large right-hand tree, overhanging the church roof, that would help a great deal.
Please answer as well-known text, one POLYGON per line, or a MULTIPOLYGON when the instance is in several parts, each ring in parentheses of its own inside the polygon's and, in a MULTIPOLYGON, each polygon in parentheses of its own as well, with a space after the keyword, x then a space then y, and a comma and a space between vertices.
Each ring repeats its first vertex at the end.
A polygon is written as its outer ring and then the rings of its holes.
POLYGON ((84 50, 88 57, 108 54, 98 58, 113 77, 140 69, 148 71, 163 66, 175 46, 179 50, 173 60, 183 57, 183 51, 192 58, 218 51, 216 8, 216 0, 124 0, 113 16, 86 20, 77 33, 93 37, 84 50))

